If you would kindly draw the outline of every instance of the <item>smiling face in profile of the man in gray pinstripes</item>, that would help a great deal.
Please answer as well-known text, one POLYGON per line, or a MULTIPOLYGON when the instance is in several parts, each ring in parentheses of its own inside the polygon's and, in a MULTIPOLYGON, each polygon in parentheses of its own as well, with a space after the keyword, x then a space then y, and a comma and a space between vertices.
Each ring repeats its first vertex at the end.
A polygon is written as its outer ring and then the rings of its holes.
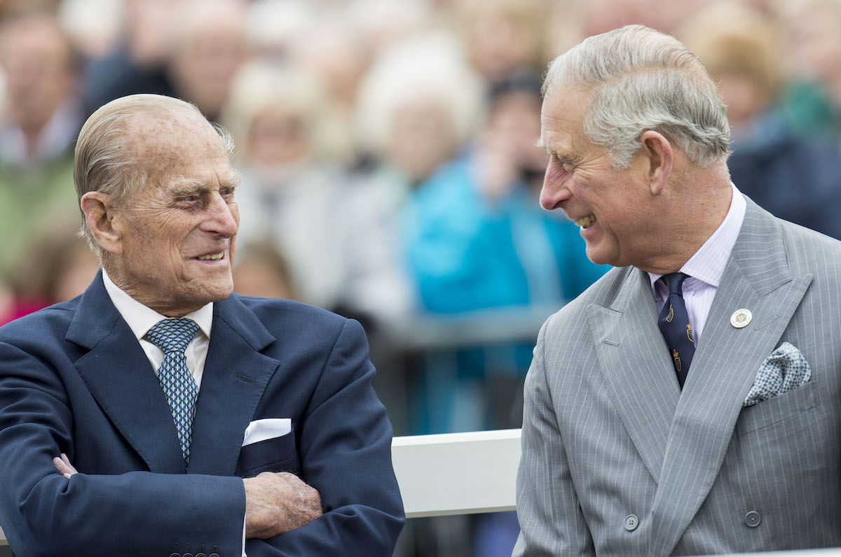
POLYGON ((655 196, 648 160, 637 155, 617 171, 606 150, 584 136, 589 92, 550 87, 543 101, 541 139, 549 155, 540 204, 561 209, 580 227, 596 264, 645 268, 659 253, 655 196))

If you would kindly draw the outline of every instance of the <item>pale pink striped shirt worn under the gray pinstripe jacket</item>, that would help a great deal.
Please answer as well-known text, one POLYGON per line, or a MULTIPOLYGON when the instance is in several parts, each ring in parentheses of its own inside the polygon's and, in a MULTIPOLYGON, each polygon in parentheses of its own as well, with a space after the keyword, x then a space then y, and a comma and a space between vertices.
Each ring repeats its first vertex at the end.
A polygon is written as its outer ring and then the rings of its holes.
MULTIPOLYGON (((704 332, 704 323, 710 314, 712 298, 716 296, 718 283, 722 280, 730 252, 733 251, 739 230, 742 229, 744 212, 747 208, 744 197, 733 182, 730 183, 730 187, 733 188, 733 199, 727 210, 727 216, 704 242, 701 249, 680 267, 680 272, 689 276, 683 283, 683 296, 686 302, 686 313, 689 313, 689 322, 692 323, 692 331, 695 334, 696 346, 704 332)), ((666 286, 662 282, 657 282, 661 276, 663 275, 648 273, 658 312, 663 309, 666 298, 669 297, 666 286)))

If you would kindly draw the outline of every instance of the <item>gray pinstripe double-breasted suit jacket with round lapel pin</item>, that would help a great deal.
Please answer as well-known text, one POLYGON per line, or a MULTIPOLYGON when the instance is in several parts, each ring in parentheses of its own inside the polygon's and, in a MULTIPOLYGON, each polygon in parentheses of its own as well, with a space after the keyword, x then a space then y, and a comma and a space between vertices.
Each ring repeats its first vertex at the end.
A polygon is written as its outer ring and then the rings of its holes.
POLYGON ((611 270, 537 339, 514 554, 841 545, 839 370, 841 242, 749 199, 682 393, 648 275, 611 270), (741 307, 753 321, 733 328, 741 307), (783 341, 805 355, 811 381, 743 407, 783 341), (751 511, 758 526, 746 523, 751 511), (631 514, 638 526, 629 531, 631 514))

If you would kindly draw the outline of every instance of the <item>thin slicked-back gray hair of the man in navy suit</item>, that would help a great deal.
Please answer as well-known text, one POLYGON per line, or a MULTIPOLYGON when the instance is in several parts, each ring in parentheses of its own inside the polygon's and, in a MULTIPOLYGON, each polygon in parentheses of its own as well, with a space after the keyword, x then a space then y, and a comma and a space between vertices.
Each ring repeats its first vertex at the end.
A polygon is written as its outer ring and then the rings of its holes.
MULTIPOLYGON (((143 117, 167 120, 183 117, 185 113, 204 118, 189 102, 150 94, 118 98, 91 114, 79 132, 73 162, 73 182, 80 208, 82 196, 87 192, 102 192, 117 205, 124 204, 140 192, 153 169, 138 154, 138 134, 133 124, 143 117)), ((234 140, 225 129, 220 126, 214 128, 219 132, 230 159, 234 152, 234 140)), ((79 235, 87 239, 100 258, 103 256, 87 227, 84 214, 79 235)))

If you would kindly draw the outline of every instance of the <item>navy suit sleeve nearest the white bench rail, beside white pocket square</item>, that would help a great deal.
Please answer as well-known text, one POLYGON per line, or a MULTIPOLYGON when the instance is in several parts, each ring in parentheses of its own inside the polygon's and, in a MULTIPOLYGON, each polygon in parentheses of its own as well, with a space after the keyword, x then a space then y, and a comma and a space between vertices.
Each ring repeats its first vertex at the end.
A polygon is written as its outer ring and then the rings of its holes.
POLYGON ((405 522, 391 465, 392 429, 371 386, 362 326, 346 321, 303 419, 301 476, 321 494, 325 514, 262 541, 248 557, 391 555, 405 522))

